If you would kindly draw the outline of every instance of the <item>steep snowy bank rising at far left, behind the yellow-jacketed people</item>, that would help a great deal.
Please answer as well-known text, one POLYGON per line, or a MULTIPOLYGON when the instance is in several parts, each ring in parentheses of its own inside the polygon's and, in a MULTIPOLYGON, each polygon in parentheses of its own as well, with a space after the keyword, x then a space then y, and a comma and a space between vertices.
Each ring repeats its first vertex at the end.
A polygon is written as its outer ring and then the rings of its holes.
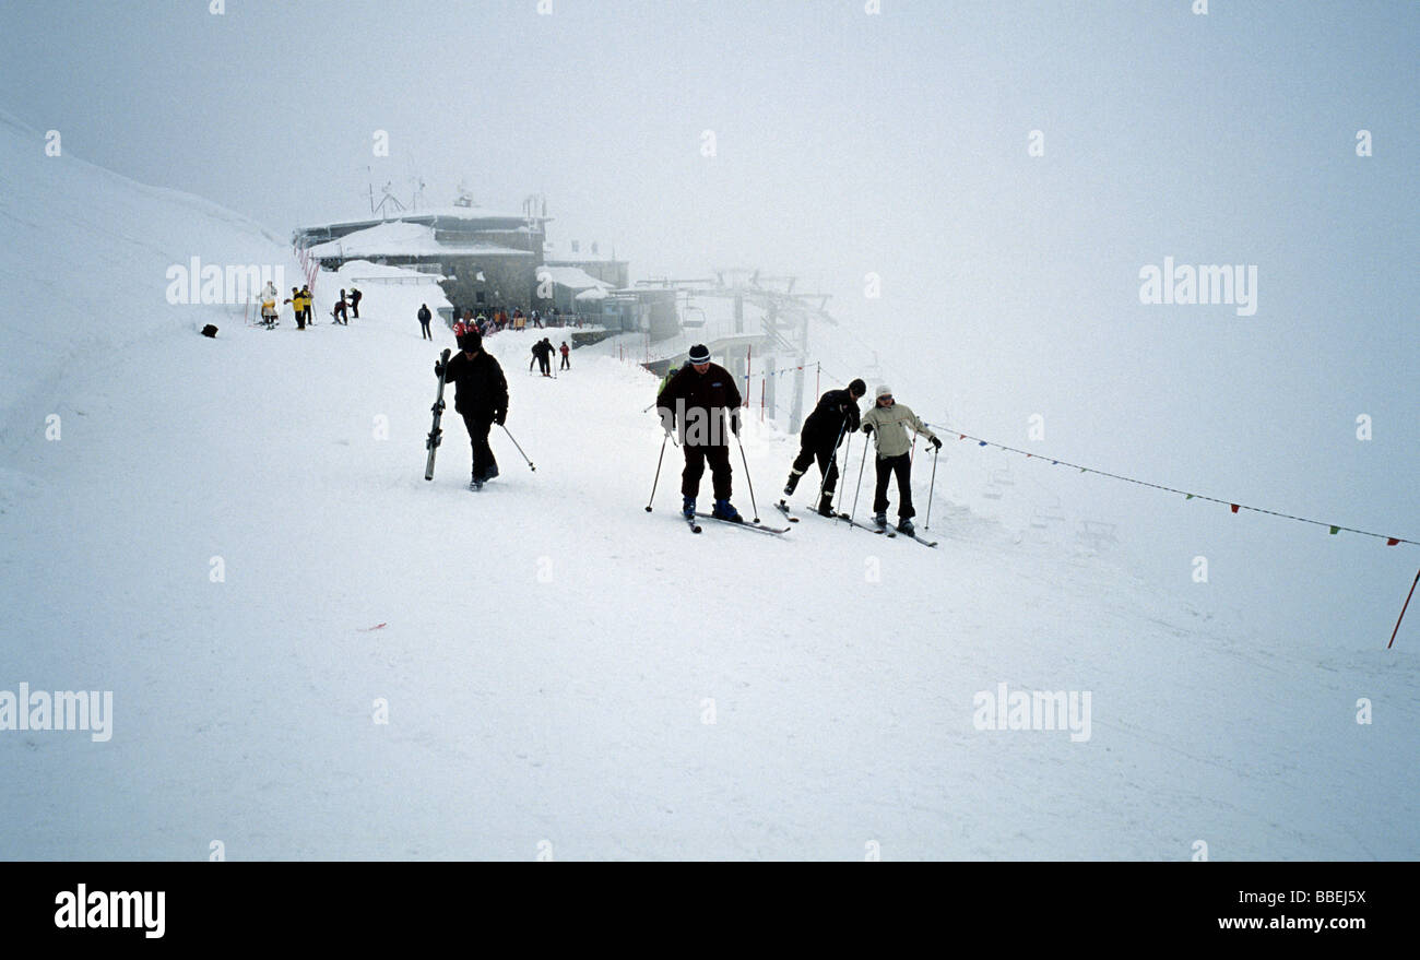
POLYGON ((169 268, 190 268, 193 257, 281 268, 287 287, 300 283, 288 244, 247 217, 62 151, 48 156, 43 133, 0 111, 0 416, 38 399, 30 389, 68 364, 207 322, 243 322, 240 301, 169 302, 169 268))

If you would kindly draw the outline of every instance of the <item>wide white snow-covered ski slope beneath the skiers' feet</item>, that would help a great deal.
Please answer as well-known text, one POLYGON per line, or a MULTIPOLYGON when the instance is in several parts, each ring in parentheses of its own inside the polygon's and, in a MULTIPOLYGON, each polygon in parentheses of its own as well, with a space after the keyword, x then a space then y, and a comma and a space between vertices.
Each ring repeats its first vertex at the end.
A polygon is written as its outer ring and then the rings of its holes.
MULTIPOLYGON (((24 163, 0 169, 47 193, 3 220, 6 376, 28 400, 7 395, 0 452, 0 690, 112 690, 114 721, 106 741, 0 730, 0 856, 1420 855, 1407 650, 1278 648, 940 497, 936 551, 816 517, 694 537, 673 447, 643 511, 656 382, 611 341, 547 379, 531 332, 490 338, 537 470, 496 430, 503 476, 467 491, 450 415, 425 483, 447 331, 197 337, 197 310, 149 307, 155 271, 281 244, 24 163), (58 260, 99 283, 47 276, 58 260), (104 349, 71 320, 98 302, 104 349), (977 729, 1000 683, 1088 692, 1089 737, 977 729)), ((747 430, 761 517, 795 449, 747 430)))

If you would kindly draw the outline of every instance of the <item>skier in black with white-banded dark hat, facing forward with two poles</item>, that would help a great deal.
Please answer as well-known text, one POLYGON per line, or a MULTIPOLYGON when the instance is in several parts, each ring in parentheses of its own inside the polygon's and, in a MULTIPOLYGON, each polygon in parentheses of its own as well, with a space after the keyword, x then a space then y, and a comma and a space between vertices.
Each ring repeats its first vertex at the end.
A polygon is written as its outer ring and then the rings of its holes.
POLYGON ((706 462, 714 481, 714 511, 719 520, 744 523, 744 517, 730 503, 731 470, 730 446, 724 430, 724 412, 730 410, 730 430, 740 436, 740 396, 730 371, 710 362, 704 344, 690 348, 690 362, 672 376, 656 398, 660 423, 670 433, 680 422, 680 446, 686 454, 686 469, 680 474, 682 514, 694 520, 696 497, 706 462))

